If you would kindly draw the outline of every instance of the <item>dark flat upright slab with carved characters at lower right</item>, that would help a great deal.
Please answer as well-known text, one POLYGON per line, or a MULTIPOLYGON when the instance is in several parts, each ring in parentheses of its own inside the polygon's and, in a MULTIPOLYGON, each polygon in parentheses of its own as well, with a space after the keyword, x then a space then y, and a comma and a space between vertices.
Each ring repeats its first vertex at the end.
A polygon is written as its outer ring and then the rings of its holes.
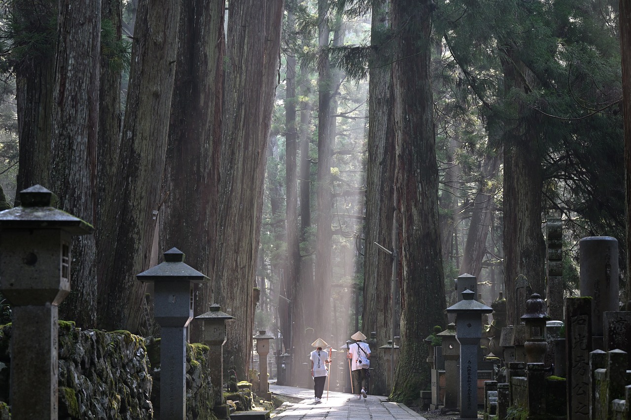
POLYGON ((567 418, 589 419, 592 298, 565 298, 567 418))

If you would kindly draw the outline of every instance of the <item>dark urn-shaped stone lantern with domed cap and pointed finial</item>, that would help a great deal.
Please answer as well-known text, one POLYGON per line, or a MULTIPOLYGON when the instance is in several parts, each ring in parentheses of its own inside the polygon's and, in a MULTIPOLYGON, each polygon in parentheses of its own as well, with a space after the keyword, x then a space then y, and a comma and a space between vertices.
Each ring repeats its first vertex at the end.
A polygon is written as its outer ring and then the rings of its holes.
POLYGON ((541 295, 533 293, 526 301, 526 313, 521 320, 526 324, 527 363, 544 363, 548 342, 546 341, 546 322, 550 319, 546 313, 546 303, 541 295))

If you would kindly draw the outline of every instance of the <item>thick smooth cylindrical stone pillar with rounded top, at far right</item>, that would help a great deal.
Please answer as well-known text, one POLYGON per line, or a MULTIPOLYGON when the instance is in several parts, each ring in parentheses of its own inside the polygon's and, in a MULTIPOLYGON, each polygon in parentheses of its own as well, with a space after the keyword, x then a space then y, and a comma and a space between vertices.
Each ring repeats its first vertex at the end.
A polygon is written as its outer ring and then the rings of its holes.
POLYGON ((581 296, 591 296, 593 348, 603 348, 603 313, 619 305, 618 240, 611 236, 588 236, 579 241, 581 296))

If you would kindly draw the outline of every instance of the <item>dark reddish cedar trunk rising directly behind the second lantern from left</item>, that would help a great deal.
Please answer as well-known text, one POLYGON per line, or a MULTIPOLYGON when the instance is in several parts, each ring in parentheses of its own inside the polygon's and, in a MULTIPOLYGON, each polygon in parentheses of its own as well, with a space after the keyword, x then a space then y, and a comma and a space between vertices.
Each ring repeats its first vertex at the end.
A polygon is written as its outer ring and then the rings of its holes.
MULTIPOLYGON (((223 16, 223 0, 182 3, 160 209, 160 252, 177 247, 186 264, 206 276, 220 178, 223 16)), ((210 284, 194 287, 197 316, 215 302, 210 284)), ((201 322, 192 322, 190 333, 192 342, 201 342, 201 322)))

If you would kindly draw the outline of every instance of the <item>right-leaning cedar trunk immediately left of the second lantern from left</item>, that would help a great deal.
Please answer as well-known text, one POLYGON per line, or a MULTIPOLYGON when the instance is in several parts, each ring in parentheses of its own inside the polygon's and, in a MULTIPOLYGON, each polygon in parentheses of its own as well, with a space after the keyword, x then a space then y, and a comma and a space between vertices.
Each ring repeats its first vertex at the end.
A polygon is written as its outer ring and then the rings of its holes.
POLYGON ((180 2, 141 0, 114 190, 98 254, 98 326, 138 332, 167 148, 180 2), (156 36, 160 34, 160 36, 156 36))

